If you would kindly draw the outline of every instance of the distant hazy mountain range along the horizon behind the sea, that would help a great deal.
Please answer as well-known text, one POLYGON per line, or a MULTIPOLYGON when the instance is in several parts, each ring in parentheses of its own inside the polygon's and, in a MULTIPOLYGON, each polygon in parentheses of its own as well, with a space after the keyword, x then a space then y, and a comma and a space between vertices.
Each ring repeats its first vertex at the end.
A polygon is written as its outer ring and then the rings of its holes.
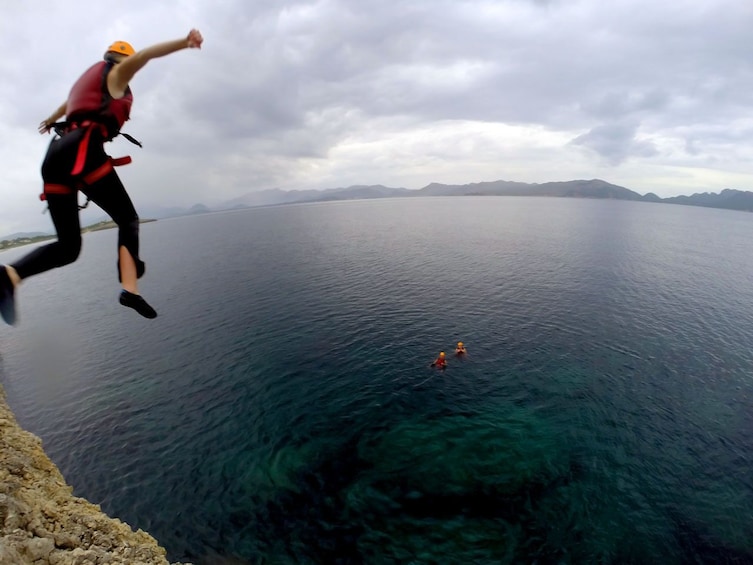
MULTIPOLYGON (((361 200, 371 198, 420 198, 423 196, 548 196, 556 198, 609 198, 613 200, 633 200, 637 202, 657 202, 662 204, 683 204, 704 206, 707 208, 724 208, 753 212, 753 192, 725 189, 719 194, 704 192, 692 196, 673 196, 659 198, 649 192, 640 195, 637 192, 610 184, 600 179, 571 180, 562 182, 525 183, 514 181, 491 181, 471 184, 432 183, 421 189, 390 188, 382 185, 355 185, 346 188, 326 190, 280 190, 277 188, 249 192, 214 207, 194 204, 190 208, 155 208, 143 207, 139 215, 143 218, 172 218, 253 208, 257 206, 276 206, 302 202, 327 202, 333 200, 361 200)), ((14 239, 18 236, 38 236, 34 234, 13 234, 0 239, 14 239), (15 236, 15 237, 14 237, 15 236)))

